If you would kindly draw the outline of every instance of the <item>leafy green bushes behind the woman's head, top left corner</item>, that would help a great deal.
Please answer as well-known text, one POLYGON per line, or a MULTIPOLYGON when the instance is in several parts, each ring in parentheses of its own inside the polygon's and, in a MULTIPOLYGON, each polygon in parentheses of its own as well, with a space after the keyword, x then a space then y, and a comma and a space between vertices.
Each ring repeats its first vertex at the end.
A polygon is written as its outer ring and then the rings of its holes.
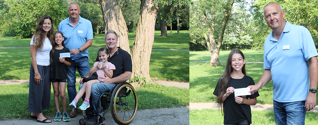
POLYGON ((5 7, 0 10, 0 22, 5 22, 0 24, 2 36, 15 35, 17 38, 31 38, 41 16, 50 16, 55 30, 58 29, 59 22, 67 17, 67 6, 63 0, 3 0, 0 4, 5 7))

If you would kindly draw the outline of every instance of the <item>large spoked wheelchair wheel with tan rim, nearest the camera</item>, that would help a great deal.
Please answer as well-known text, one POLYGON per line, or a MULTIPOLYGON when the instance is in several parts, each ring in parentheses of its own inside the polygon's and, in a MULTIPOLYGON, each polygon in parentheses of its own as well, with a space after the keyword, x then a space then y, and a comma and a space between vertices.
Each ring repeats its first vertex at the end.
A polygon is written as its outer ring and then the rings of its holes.
POLYGON ((117 85, 110 102, 110 111, 117 124, 127 125, 133 121, 138 106, 137 94, 133 86, 128 83, 117 85))

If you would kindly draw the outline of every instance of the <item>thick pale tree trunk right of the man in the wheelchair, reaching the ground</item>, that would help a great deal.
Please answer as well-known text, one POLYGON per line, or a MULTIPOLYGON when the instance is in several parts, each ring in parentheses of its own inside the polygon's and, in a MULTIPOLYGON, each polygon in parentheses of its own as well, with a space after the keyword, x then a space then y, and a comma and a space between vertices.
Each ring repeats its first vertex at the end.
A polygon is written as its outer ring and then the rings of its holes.
POLYGON ((152 44, 155 38, 157 6, 154 5, 154 2, 155 0, 141 1, 140 16, 132 50, 132 77, 140 75, 140 77, 145 77, 147 81, 150 81, 149 62, 152 44))

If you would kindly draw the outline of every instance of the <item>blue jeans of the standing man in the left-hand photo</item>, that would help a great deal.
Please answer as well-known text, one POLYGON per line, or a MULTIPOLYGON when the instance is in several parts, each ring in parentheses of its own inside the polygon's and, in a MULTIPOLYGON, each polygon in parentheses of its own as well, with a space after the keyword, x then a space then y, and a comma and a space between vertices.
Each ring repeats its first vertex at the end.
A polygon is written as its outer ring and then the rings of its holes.
POLYGON ((70 103, 76 96, 76 69, 79 71, 81 77, 88 74, 90 66, 87 56, 72 60, 71 66, 67 68, 67 93, 70 103))

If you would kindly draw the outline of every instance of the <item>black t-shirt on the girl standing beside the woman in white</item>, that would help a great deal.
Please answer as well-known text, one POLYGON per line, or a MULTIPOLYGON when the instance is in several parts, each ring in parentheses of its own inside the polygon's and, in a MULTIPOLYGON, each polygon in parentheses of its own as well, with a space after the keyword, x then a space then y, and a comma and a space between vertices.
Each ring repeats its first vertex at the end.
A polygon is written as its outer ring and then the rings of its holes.
MULTIPOLYGON (((50 69, 50 79, 64 80, 67 78, 67 66, 64 63, 59 62, 60 53, 70 53, 70 50, 66 47, 54 50, 53 62, 50 69)), ((65 61, 72 62, 72 58, 66 57, 65 61)))

